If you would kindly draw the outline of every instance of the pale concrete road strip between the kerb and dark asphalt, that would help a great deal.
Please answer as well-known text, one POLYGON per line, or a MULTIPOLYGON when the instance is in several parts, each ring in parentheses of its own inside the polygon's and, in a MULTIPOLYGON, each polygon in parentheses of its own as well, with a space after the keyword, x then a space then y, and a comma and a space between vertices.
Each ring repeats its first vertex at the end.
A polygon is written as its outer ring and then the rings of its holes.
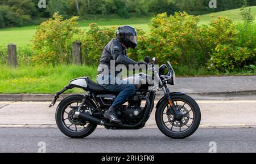
MULTIPOLYGON (((255 126, 256 100, 197 101, 201 109, 201 126, 255 126)), ((56 127, 57 104, 49 102, 0 102, 0 127, 56 127)), ((155 102, 156 104, 156 102, 155 102)), ((155 110, 146 127, 156 127, 155 110)))

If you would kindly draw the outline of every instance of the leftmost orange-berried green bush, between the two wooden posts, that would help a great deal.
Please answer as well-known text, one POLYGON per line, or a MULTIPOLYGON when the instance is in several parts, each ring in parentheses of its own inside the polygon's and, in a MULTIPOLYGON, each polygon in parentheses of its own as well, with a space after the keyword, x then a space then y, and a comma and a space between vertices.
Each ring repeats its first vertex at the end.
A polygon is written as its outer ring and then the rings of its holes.
POLYGON ((33 47, 36 55, 34 62, 39 63, 70 63, 72 61, 72 36, 78 29, 78 17, 64 20, 55 13, 36 28, 33 38, 33 47))

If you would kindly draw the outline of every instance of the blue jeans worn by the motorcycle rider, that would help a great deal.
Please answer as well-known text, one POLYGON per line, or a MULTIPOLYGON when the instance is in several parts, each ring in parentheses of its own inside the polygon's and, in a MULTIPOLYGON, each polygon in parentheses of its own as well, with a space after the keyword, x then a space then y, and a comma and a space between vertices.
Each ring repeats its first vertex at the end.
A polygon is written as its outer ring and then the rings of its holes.
POLYGON ((128 84, 127 82, 119 79, 119 77, 108 76, 108 75, 98 75, 97 76, 98 84, 101 87, 109 90, 110 92, 116 92, 118 96, 115 98, 112 106, 118 107, 126 102, 127 98, 134 96, 136 93, 135 85, 128 84), (111 81, 111 83, 110 83, 111 81), (102 83, 104 82, 104 83, 102 83))

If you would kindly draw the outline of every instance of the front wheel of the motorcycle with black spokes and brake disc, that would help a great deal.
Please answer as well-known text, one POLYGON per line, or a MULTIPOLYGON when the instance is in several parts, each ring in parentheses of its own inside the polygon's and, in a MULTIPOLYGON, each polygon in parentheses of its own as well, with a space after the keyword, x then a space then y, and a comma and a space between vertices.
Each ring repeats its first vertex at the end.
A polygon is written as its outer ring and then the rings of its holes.
POLYGON ((168 101, 164 100, 156 109, 155 119, 159 130, 173 139, 184 139, 192 135, 199 127, 201 120, 200 108, 193 98, 183 94, 171 96, 172 102, 182 114, 179 120, 168 108, 168 101))

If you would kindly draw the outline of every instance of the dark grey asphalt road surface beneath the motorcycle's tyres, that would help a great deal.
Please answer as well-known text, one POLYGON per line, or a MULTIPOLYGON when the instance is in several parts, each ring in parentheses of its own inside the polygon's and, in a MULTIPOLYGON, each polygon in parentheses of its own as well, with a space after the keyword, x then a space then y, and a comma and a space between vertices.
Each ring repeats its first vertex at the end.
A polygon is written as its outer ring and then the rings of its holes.
POLYGON ((199 128, 183 140, 170 139, 156 128, 131 131, 97 128, 84 139, 70 139, 57 128, 0 128, 0 152, 36 153, 38 150, 102 153, 256 152, 256 128, 199 128))

